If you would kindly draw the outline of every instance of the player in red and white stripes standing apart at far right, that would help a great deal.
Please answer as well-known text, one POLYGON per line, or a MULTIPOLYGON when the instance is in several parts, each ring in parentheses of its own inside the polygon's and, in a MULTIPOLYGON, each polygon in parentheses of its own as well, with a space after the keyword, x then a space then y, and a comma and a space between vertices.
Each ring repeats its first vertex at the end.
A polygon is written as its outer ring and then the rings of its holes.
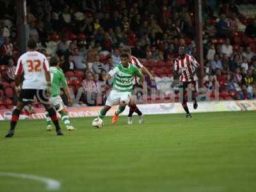
MULTIPOLYGON (((192 85, 192 100, 194 100, 193 108, 196 109, 198 104, 196 102, 195 92, 196 92, 196 71, 199 67, 199 63, 190 56, 189 54, 185 53, 184 47, 179 47, 179 57, 175 60, 174 63, 174 70, 175 72, 179 73, 179 90, 182 88, 182 107, 186 111, 187 118, 191 118, 191 114, 189 113, 189 109, 187 106, 187 99, 185 98, 186 95, 186 88, 192 85)), ((180 93, 181 95, 181 93, 180 93)))

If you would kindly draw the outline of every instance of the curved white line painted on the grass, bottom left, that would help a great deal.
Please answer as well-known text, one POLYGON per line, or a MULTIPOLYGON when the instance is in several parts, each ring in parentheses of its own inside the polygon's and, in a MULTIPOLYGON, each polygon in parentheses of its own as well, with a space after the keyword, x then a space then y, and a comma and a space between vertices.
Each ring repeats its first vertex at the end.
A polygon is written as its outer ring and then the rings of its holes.
POLYGON ((31 179, 44 182, 46 184, 46 189, 49 191, 58 191, 60 189, 61 183, 58 180, 49 179, 46 177, 40 177, 36 175, 27 175, 22 173, 10 173, 10 172, 0 172, 0 177, 18 177, 20 179, 31 179))

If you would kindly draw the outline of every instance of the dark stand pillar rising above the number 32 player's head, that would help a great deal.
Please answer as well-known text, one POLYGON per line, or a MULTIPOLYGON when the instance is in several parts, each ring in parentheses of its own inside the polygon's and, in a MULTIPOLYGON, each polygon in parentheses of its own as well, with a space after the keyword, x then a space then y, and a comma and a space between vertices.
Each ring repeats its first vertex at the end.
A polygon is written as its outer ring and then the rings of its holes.
POLYGON ((17 7, 17 36, 19 45, 19 54, 23 54, 27 51, 27 41, 28 41, 28 30, 27 30, 27 8, 26 0, 16 0, 17 7))

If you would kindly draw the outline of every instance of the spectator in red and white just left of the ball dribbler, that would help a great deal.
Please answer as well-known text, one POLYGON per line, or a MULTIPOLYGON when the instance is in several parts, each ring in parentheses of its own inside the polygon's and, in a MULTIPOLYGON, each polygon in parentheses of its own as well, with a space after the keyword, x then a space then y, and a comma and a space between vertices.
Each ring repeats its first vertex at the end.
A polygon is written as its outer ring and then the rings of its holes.
POLYGON ((86 105, 88 106, 95 106, 96 98, 97 98, 97 84, 95 83, 93 79, 92 72, 86 73, 86 79, 82 81, 83 86, 83 95, 82 100, 86 105))

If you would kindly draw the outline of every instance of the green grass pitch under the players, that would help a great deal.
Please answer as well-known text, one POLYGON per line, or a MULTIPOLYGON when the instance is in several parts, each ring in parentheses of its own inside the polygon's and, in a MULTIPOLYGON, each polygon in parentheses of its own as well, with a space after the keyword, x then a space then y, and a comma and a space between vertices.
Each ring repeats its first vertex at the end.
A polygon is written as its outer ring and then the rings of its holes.
MULTIPOLYGON (((44 120, 22 120, 13 138, 0 122, 0 172, 59 180, 59 191, 253 192, 256 111, 145 116, 117 125, 73 118, 77 131, 56 136, 44 120)), ((0 191, 47 191, 35 180, 0 177, 0 191)))

